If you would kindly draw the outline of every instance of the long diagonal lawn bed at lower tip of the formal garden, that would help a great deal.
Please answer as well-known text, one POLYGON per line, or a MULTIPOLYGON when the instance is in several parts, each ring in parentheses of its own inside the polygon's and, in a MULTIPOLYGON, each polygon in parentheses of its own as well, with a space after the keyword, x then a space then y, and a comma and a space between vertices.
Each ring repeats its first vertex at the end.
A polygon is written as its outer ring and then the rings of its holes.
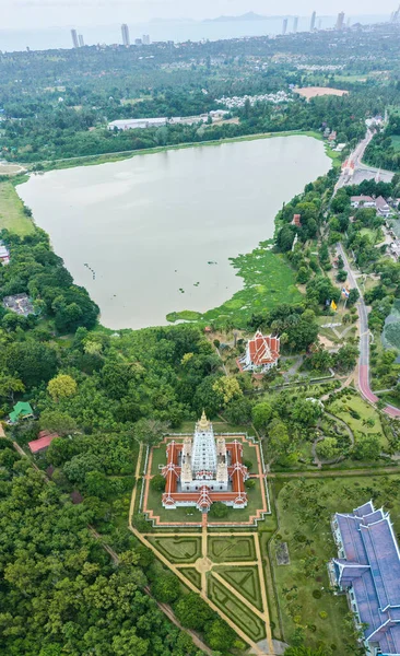
POLYGON ((263 622, 243 602, 228 591, 219 581, 208 577, 208 595, 251 640, 258 642, 266 637, 263 622))

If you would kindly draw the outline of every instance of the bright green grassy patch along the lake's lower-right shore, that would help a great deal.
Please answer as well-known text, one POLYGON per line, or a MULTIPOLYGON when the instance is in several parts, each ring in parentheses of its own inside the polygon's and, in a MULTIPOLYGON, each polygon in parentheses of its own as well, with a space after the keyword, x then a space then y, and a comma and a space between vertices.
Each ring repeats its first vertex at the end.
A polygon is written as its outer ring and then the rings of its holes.
MULTIPOLYGON (((299 303, 302 294, 296 288, 294 271, 282 255, 272 253, 271 242, 261 243, 247 255, 231 258, 236 276, 243 278, 244 289, 236 292, 223 305, 197 313, 192 319, 211 324, 231 320, 236 328, 244 328, 254 313, 262 313, 281 303, 299 303)), ((170 313, 168 321, 188 319, 187 311, 170 313)))

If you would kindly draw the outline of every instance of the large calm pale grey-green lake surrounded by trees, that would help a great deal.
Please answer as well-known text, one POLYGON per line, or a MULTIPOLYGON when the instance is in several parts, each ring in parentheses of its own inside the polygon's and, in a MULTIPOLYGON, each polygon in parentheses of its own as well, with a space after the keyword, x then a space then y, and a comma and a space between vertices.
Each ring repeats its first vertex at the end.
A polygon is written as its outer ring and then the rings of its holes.
POLYGON ((102 323, 142 328, 230 298, 228 258, 272 237, 282 203, 330 165, 321 141, 277 137, 52 171, 17 191, 102 323))

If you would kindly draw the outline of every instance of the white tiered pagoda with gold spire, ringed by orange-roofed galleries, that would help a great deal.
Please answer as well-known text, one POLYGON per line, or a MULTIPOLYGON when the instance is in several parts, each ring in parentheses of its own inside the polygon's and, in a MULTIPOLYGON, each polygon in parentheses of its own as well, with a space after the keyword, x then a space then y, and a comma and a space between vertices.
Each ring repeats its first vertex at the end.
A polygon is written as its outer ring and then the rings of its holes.
POLYGON ((226 444, 222 435, 215 437, 204 412, 193 437, 169 442, 162 472, 166 479, 165 508, 196 506, 207 513, 215 501, 234 508, 247 505, 248 470, 243 465, 243 445, 237 440, 226 444))

